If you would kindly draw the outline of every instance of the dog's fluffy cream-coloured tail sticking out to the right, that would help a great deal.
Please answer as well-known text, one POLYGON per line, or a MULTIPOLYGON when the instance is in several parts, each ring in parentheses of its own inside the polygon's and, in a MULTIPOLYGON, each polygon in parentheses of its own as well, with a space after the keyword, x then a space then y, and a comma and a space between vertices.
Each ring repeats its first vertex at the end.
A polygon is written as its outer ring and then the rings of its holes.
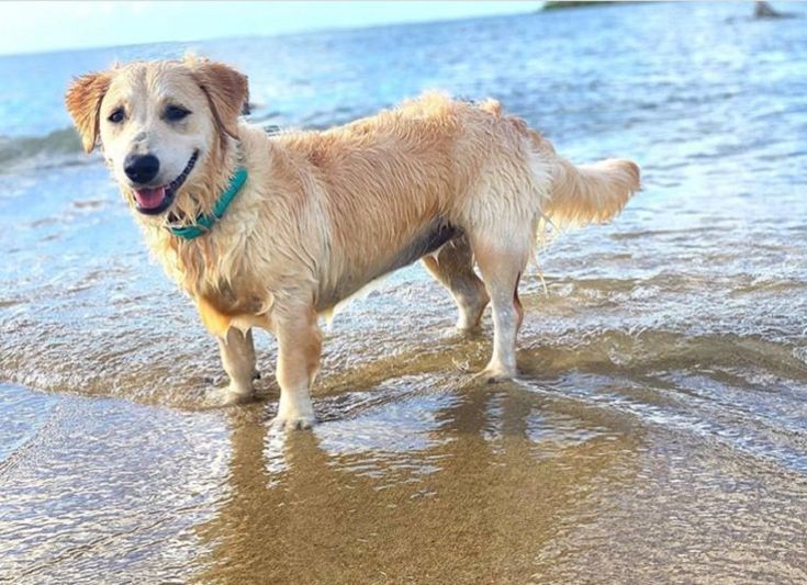
POLYGON ((550 166, 551 187, 542 211, 560 228, 607 222, 641 188, 639 167, 623 158, 575 166, 553 157, 550 166))

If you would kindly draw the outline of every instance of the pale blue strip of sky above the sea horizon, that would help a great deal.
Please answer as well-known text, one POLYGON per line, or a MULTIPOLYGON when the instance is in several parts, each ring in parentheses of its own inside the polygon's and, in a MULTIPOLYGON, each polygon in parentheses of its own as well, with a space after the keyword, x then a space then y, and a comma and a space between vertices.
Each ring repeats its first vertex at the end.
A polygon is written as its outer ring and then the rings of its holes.
POLYGON ((0 54, 530 12, 541 2, 0 2, 0 54))

